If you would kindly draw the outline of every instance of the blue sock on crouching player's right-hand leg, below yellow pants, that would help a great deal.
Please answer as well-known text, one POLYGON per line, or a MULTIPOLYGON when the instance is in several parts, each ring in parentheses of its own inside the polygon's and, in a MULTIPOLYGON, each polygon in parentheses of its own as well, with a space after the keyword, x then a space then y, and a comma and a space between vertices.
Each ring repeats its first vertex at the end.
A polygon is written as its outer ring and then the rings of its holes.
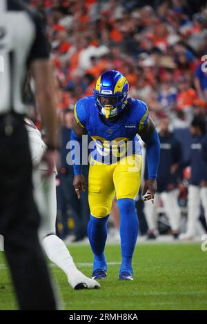
POLYGON ((132 256, 138 236, 138 217, 135 211, 135 201, 129 198, 118 200, 120 211, 120 236, 122 263, 119 273, 132 272, 132 256))

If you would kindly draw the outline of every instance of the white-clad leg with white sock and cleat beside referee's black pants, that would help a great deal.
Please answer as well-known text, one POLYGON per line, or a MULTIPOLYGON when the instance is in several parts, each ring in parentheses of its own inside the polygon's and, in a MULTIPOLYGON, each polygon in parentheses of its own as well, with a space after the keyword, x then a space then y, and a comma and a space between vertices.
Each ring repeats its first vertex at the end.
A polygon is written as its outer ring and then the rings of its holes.
POLYGON ((57 199, 55 176, 56 174, 53 172, 51 176, 43 178, 43 171, 34 171, 35 197, 41 213, 40 236, 43 249, 50 261, 65 272, 68 283, 72 288, 99 287, 99 283, 87 278, 77 269, 65 243, 56 235, 57 199))

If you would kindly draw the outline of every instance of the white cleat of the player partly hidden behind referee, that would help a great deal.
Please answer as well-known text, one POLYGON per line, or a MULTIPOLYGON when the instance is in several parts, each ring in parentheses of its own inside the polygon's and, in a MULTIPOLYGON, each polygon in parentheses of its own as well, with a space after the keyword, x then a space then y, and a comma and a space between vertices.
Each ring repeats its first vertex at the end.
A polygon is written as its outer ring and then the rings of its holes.
POLYGON ((70 272, 68 283, 70 283, 71 287, 75 290, 101 288, 101 285, 97 281, 88 278, 77 269, 70 272))

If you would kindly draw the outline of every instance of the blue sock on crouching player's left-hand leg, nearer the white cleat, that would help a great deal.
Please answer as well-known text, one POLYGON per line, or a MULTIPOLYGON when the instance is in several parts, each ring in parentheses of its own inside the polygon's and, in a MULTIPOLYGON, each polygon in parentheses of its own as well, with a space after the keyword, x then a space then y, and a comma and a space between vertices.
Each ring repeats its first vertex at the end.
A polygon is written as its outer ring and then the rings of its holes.
POLYGON ((106 222, 108 216, 103 217, 102 219, 90 216, 90 221, 88 223, 88 239, 90 241, 91 250, 94 254, 93 271, 97 269, 107 270, 104 249, 107 239, 106 222))

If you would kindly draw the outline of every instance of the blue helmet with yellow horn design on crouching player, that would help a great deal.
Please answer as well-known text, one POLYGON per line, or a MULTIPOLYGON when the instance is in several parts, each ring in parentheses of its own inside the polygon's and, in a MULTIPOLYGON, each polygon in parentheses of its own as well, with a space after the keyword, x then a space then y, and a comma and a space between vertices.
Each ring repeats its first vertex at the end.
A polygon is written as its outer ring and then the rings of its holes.
POLYGON ((93 94, 95 106, 107 119, 117 116, 126 106, 129 84, 119 71, 106 71, 97 80, 93 94))

